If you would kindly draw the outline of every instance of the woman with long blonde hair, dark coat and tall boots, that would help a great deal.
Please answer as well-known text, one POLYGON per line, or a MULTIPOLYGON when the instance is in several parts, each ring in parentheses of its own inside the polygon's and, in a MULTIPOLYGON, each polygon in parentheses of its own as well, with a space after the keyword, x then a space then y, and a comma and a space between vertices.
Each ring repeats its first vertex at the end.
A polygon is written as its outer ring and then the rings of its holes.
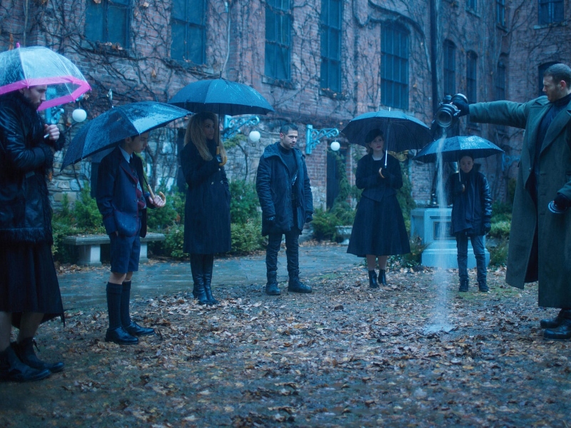
POLYGON ((218 117, 206 111, 195 114, 188 122, 181 151, 181 167, 188 184, 183 250, 191 255, 193 295, 201 305, 218 303, 211 290, 214 254, 231 249, 225 163, 218 117))

